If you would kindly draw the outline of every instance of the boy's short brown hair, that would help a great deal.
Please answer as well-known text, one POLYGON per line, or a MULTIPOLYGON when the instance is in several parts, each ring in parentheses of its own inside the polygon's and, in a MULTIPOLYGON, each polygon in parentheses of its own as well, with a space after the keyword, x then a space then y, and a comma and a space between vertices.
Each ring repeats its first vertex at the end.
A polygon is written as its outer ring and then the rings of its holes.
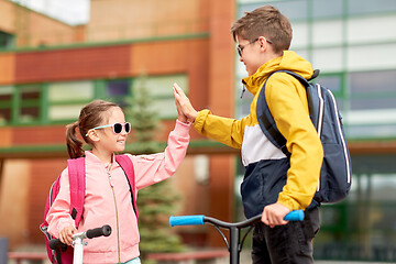
POLYGON ((238 36, 250 42, 265 36, 273 43, 275 53, 288 50, 293 37, 290 21, 272 6, 245 12, 244 16, 232 24, 231 33, 235 42, 238 36))

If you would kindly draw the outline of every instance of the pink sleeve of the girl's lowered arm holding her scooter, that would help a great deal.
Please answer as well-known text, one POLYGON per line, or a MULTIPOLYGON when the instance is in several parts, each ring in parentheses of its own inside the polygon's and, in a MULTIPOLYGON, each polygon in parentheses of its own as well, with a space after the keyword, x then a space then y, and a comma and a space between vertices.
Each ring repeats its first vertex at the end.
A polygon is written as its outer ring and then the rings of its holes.
POLYGON ((59 238, 59 232, 75 221, 70 216, 70 186, 68 180, 68 169, 64 169, 61 175, 61 188, 46 217, 48 232, 59 238))

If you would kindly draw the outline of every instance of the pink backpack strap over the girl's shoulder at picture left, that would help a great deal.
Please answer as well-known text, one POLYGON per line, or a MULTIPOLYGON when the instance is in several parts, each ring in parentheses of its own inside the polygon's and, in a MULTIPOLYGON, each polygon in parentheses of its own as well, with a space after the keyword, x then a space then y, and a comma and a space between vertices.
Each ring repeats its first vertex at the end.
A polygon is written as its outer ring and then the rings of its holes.
POLYGON ((85 158, 67 160, 70 184, 70 216, 75 220, 76 228, 82 217, 85 199, 85 158))

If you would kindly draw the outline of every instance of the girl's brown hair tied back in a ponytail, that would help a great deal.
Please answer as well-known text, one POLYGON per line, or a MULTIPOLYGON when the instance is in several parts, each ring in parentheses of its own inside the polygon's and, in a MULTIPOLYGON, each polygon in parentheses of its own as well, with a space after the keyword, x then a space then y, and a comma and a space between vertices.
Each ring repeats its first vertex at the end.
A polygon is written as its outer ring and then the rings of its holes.
POLYGON ((91 101, 81 109, 78 121, 66 127, 66 145, 70 158, 84 156, 84 142, 77 138, 76 129, 78 128, 79 133, 86 143, 92 144, 91 140, 86 136, 86 134, 90 129, 101 125, 106 121, 106 113, 114 107, 119 106, 103 100, 91 101))

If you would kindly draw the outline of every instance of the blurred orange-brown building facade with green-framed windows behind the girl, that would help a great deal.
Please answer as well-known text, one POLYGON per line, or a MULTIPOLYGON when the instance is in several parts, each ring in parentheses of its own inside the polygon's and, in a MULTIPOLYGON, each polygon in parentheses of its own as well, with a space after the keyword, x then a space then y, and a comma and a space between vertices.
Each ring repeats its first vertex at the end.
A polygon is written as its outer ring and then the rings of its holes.
MULTIPOLYGON (((66 166, 65 124, 87 102, 101 98, 124 106, 145 76, 163 120, 157 140, 164 142, 177 118, 174 82, 197 108, 232 116, 234 14, 232 1, 94 0, 89 23, 72 26, 0 1, 0 215, 7 216, 0 235, 10 238, 11 249, 43 242, 43 206, 66 166)), ((183 196, 180 212, 231 220, 234 154, 191 136, 195 147, 170 179, 183 196), (208 152, 217 154, 210 162, 200 155, 208 152), (210 183, 209 175, 216 175, 210 183)), ((132 144, 127 151, 133 153, 132 144)), ((180 232, 199 243, 221 243, 205 230, 180 232)))

